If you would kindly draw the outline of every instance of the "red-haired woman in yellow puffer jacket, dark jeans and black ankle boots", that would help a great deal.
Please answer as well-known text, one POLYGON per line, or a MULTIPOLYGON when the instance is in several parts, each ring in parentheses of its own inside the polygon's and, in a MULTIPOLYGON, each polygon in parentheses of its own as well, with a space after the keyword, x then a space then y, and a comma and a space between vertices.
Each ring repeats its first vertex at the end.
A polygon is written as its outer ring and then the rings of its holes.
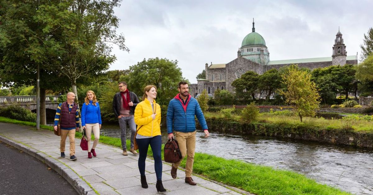
POLYGON ((157 192, 166 192, 162 184, 161 159, 161 108, 154 100, 157 97, 157 87, 148 85, 144 88, 142 101, 135 108, 135 123, 137 125, 136 143, 139 148, 138 167, 141 175, 142 188, 148 188, 145 177, 145 159, 150 145, 153 151, 154 169, 157 176, 157 192))

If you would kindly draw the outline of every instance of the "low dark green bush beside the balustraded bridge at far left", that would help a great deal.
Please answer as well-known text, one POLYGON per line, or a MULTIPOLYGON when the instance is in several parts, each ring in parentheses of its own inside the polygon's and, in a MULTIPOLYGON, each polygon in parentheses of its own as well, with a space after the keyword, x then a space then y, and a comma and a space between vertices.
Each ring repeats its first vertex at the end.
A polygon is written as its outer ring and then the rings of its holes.
POLYGON ((22 108, 18 105, 10 105, 0 109, 0 116, 8 117, 10 119, 36 122, 36 114, 32 113, 31 110, 22 108))

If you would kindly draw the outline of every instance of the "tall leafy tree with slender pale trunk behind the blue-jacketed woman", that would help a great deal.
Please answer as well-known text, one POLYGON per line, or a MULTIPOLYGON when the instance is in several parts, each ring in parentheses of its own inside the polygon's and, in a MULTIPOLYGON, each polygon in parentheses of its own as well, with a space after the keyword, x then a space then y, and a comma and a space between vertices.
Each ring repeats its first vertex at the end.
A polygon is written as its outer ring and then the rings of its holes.
POLYGON ((49 69, 66 76, 76 91, 76 80, 95 76, 109 68, 116 59, 109 43, 129 51, 123 35, 117 35, 119 19, 114 8, 120 0, 68 0, 39 7, 37 22, 45 23, 43 32, 50 35, 50 44, 59 57, 49 69))

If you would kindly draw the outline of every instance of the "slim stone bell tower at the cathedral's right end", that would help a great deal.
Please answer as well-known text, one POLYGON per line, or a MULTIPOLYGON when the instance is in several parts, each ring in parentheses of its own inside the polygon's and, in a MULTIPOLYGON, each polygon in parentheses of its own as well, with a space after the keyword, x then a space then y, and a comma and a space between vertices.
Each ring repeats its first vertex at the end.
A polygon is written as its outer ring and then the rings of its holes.
POLYGON ((343 43, 342 33, 339 31, 336 34, 333 45, 332 65, 345 65, 346 64, 346 45, 343 43))

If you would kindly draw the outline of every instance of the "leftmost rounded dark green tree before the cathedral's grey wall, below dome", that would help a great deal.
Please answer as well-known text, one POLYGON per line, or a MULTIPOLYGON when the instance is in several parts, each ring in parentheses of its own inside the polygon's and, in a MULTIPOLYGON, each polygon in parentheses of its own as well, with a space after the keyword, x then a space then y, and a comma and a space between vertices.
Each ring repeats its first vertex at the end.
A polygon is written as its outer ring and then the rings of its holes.
POLYGON ((259 75, 253 71, 247 71, 241 78, 232 82, 232 86, 236 88, 236 93, 242 94, 242 97, 247 97, 245 94, 250 94, 255 100, 255 94, 259 85, 259 75))

